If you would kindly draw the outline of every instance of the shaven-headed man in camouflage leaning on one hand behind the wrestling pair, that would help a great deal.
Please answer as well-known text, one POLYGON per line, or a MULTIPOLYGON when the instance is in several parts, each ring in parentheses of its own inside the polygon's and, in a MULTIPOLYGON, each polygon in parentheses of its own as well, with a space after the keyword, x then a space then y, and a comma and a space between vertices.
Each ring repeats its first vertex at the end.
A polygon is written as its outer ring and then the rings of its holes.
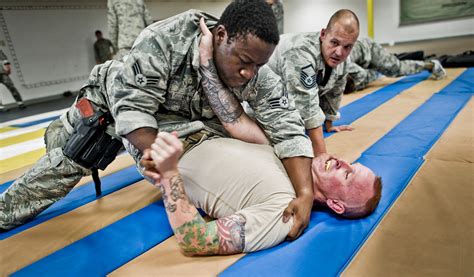
POLYGON ((315 155, 326 153, 323 124, 329 132, 351 130, 350 126, 332 126, 332 122, 340 117, 347 76, 345 60, 358 35, 356 15, 340 10, 320 33, 282 35, 268 63, 295 98, 315 155))

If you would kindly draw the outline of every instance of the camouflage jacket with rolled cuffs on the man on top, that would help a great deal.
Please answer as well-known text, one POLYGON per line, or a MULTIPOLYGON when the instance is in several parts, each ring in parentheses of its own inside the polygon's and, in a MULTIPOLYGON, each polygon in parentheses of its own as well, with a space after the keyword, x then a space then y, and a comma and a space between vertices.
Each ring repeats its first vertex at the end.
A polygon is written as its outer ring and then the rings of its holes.
MULTIPOLYGON (((190 10, 150 25, 139 35, 113 87, 119 135, 143 127, 161 130, 158 123, 163 121, 188 134, 206 129, 225 135, 200 85, 201 17, 210 29, 215 26, 216 18, 190 10)), ((279 158, 312 157, 301 117, 272 70, 262 67, 245 87, 232 92, 254 110, 279 158)))

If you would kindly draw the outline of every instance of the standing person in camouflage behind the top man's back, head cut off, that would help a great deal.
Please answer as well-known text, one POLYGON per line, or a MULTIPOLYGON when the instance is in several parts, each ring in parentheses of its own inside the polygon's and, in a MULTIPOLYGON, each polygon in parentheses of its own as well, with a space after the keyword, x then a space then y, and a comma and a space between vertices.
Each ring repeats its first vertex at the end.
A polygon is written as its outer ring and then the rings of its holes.
POLYGON ((153 20, 143 0, 108 0, 107 8, 109 38, 117 49, 114 59, 120 60, 153 20))

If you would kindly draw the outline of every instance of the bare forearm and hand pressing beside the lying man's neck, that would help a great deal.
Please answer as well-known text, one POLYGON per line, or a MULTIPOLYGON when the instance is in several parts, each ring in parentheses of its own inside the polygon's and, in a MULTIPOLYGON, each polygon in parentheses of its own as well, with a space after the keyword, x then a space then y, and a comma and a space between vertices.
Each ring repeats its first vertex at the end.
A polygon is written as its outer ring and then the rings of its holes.
POLYGON ((296 198, 283 212, 283 222, 294 216, 294 225, 287 238, 294 240, 306 229, 313 207, 313 176, 311 175, 311 158, 292 157, 282 160, 283 166, 295 188, 296 198))

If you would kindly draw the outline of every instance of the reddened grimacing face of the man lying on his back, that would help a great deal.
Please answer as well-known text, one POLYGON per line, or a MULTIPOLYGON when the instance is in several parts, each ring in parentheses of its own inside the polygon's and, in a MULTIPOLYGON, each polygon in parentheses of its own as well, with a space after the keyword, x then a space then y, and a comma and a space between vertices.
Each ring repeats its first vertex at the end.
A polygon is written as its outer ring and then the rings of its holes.
POLYGON ((337 158, 315 158, 314 182, 328 199, 342 200, 346 206, 364 205, 374 195, 375 174, 368 167, 337 158))

